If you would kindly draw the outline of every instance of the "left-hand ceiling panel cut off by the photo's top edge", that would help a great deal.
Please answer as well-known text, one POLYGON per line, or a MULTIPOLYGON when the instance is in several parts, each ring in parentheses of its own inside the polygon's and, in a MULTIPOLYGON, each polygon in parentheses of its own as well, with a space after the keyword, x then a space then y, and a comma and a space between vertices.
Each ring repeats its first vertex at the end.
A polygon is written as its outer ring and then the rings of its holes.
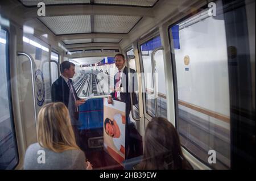
POLYGON ((37 6, 39 2, 46 5, 60 5, 60 4, 81 4, 90 3, 90 0, 20 0, 25 6, 37 6))

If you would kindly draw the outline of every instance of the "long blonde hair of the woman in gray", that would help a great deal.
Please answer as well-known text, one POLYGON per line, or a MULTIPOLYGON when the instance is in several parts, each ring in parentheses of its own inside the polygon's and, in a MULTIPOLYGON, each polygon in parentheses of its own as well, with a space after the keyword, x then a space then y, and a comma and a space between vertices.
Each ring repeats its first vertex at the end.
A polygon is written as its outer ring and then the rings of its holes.
POLYGON ((68 109, 61 102, 49 103, 38 113, 37 137, 39 145, 55 152, 80 149, 69 118, 68 109))

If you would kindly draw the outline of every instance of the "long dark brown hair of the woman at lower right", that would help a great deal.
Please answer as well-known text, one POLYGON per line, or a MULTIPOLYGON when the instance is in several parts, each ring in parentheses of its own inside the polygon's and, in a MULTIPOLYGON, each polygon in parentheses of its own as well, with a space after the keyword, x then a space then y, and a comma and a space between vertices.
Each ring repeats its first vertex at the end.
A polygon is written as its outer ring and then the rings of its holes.
POLYGON ((181 151, 176 129, 167 119, 154 117, 148 123, 139 169, 192 169, 181 151))

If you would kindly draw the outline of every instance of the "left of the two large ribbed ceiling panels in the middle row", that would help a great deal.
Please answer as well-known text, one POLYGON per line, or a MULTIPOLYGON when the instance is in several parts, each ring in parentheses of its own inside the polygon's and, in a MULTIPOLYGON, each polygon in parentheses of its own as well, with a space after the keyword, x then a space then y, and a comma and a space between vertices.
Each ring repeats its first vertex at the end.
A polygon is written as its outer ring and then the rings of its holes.
POLYGON ((55 35, 90 33, 90 16, 52 16, 39 18, 55 35))

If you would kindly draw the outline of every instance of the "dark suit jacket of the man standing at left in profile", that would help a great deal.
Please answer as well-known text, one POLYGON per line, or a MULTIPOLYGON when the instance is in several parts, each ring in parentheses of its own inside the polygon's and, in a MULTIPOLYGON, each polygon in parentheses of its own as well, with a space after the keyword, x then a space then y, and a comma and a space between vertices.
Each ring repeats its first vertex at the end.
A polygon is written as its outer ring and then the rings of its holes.
MULTIPOLYGON (((72 79, 69 79, 73 87, 72 79)), ((73 87, 76 100, 80 100, 77 96, 75 88, 73 87)), ((52 84, 52 102, 63 102, 67 106, 72 124, 75 124, 79 118, 79 113, 76 110, 75 99, 72 95, 72 92, 69 90, 67 82, 60 76, 52 84)))

